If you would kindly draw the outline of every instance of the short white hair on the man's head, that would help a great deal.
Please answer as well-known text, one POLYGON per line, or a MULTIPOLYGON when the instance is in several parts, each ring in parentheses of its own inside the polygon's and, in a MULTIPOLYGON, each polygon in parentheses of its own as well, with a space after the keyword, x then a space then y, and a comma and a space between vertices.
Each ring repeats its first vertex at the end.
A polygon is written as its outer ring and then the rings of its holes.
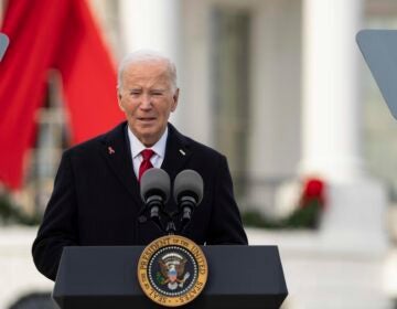
POLYGON ((127 54, 120 62, 117 72, 117 89, 120 90, 122 88, 122 73, 125 72, 126 67, 132 63, 142 63, 142 62, 164 62, 167 64, 168 75, 170 77, 171 89, 175 92, 176 86, 176 66, 175 64, 168 58, 167 56, 160 54, 155 51, 150 50, 139 50, 127 54))

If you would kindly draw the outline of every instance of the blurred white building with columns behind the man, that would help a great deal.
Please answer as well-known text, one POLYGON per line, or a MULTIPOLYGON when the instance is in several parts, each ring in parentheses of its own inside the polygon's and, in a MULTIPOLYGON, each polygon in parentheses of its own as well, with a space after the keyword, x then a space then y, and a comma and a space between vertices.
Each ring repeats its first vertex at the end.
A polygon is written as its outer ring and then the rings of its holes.
MULTIPOLYGON (((0 12, 13 2, 0 1, 0 12)), ((227 156, 244 214, 282 220, 299 206, 307 179, 326 185, 316 228, 247 230, 251 244, 280 248, 285 308, 397 308, 397 122, 355 43, 360 29, 397 26, 396 1, 87 3, 114 64, 136 49, 175 61, 181 97, 171 121, 227 156)), ((73 141, 62 76, 47 76, 22 185, 10 192, 31 215, 44 211, 73 141)), ((36 227, 3 225, 0 308, 10 308, 52 285, 30 259, 36 227)))

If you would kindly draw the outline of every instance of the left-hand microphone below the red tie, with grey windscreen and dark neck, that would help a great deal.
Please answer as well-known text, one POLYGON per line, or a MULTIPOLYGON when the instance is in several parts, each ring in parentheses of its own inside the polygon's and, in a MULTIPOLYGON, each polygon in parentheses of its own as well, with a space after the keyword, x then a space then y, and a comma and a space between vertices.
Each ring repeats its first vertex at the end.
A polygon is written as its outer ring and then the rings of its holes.
POLYGON ((150 219, 157 223, 160 223, 160 209, 170 198, 170 177, 162 169, 151 168, 140 180, 141 199, 150 210, 150 219))

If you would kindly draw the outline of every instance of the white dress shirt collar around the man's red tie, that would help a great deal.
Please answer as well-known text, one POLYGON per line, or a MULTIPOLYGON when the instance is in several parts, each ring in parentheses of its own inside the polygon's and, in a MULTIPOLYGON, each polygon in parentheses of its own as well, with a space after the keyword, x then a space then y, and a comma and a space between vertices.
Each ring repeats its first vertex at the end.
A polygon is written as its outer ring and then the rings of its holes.
POLYGON ((160 169, 162 162, 164 161, 167 137, 168 137, 168 127, 165 128, 165 131, 158 140, 158 142, 155 142, 152 147, 148 148, 133 135, 131 129, 128 127, 128 139, 130 142, 133 172, 137 175, 137 179, 139 173, 139 167, 143 160, 141 152, 144 149, 151 149, 154 151, 153 156, 150 158, 150 162, 154 168, 160 169))

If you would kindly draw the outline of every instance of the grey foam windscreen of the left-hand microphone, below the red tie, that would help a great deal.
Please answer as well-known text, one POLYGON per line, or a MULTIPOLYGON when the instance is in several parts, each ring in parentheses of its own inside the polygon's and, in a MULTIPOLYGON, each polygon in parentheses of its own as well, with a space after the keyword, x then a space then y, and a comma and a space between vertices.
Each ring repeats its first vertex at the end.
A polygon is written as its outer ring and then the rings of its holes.
POLYGON ((167 203, 170 198, 171 181, 169 174, 162 170, 152 168, 147 170, 140 180, 140 193, 143 203, 151 195, 161 195, 167 203))

